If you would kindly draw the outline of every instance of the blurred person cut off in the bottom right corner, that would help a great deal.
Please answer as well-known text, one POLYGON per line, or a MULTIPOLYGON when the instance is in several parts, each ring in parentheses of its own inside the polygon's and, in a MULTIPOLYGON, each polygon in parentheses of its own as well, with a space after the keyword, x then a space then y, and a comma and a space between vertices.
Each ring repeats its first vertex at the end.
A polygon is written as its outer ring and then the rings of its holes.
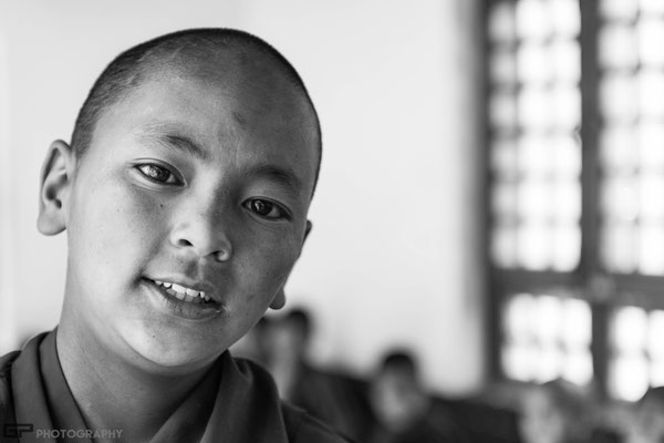
POLYGON ((664 442, 664 387, 651 388, 636 403, 624 443, 664 442))

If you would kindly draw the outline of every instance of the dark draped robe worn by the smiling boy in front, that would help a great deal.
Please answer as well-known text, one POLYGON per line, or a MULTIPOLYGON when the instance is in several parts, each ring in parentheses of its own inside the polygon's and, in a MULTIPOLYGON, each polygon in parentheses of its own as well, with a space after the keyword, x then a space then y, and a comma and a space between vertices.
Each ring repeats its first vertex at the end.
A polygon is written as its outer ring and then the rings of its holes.
MULTIPOLYGON (((120 440, 122 430, 87 430, 62 373, 55 333, 42 333, 23 351, 0 357, 0 442, 120 440), (18 434, 20 440, 15 437, 18 434)), ((228 352, 215 362, 151 440, 153 443, 198 441, 346 442, 315 419, 280 401, 271 378, 261 368, 235 360, 228 352), (216 398, 208 395, 207 403, 199 402, 201 396, 196 393, 210 391, 217 392, 216 398)))

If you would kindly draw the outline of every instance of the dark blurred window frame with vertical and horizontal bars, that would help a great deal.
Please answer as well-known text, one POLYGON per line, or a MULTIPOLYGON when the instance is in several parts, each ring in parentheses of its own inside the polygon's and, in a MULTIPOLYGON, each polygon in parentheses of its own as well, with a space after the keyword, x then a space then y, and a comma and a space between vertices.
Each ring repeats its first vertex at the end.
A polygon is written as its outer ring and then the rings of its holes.
MULTIPOLYGON (((481 52, 486 60, 491 53, 489 35, 490 11, 495 3, 505 0, 487 0, 483 2, 484 39, 481 52)), ((513 3, 517 0, 509 0, 513 3)), ((494 381, 509 381, 501 369, 501 346, 504 332, 501 328, 502 302, 510 293, 548 292, 551 288, 569 288, 579 298, 589 302, 592 312, 593 381, 598 387, 600 399, 609 399, 609 364, 611 359, 610 326, 615 308, 636 306, 646 310, 664 309, 664 277, 639 274, 618 274, 604 270, 600 258, 600 145, 599 132, 602 127, 599 103, 601 69, 598 58, 598 37, 601 30, 599 1, 578 0, 581 17, 581 30, 578 38, 581 49, 581 250, 575 269, 571 271, 532 271, 525 269, 505 269, 496 266, 491 258, 491 231, 494 219, 490 210, 490 195, 494 183, 490 154, 492 130, 489 120, 489 100, 491 97, 491 78, 488 69, 484 69, 483 94, 485 127, 483 148, 485 162, 485 194, 483 218, 486 222, 484 256, 486 258, 488 282, 488 370, 494 381)))

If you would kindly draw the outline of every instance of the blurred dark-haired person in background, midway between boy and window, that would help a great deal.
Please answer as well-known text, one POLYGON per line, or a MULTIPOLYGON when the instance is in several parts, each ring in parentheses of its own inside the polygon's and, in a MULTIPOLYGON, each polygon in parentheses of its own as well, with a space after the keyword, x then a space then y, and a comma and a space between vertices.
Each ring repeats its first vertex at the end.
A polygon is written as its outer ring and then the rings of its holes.
POLYGON ((458 443, 468 439, 419 381, 415 358, 407 350, 388 352, 373 380, 371 405, 375 422, 370 443, 458 443))

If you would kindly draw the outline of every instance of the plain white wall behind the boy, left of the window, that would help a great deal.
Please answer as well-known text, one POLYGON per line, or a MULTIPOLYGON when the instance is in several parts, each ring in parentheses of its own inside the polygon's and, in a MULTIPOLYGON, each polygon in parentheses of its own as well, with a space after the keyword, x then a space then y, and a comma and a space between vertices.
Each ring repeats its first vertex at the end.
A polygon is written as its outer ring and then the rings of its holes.
MULTIPOLYGON (((317 312, 314 357, 369 371, 388 346, 409 344, 422 353, 435 388, 478 387, 483 272, 470 69, 476 3, 2 2, 11 87, 0 100, 8 103, 11 132, 0 134, 7 142, 0 148, 11 151, 13 202, 0 208, 0 228, 11 227, 15 245, 0 261, 2 315, 13 310, 19 337, 58 321, 65 238, 37 234, 39 167, 51 140, 69 140, 103 66, 159 33, 236 27, 293 62, 322 120, 314 230, 288 287, 291 302, 317 312)), ((9 337, 3 326, 0 334, 9 337)))

